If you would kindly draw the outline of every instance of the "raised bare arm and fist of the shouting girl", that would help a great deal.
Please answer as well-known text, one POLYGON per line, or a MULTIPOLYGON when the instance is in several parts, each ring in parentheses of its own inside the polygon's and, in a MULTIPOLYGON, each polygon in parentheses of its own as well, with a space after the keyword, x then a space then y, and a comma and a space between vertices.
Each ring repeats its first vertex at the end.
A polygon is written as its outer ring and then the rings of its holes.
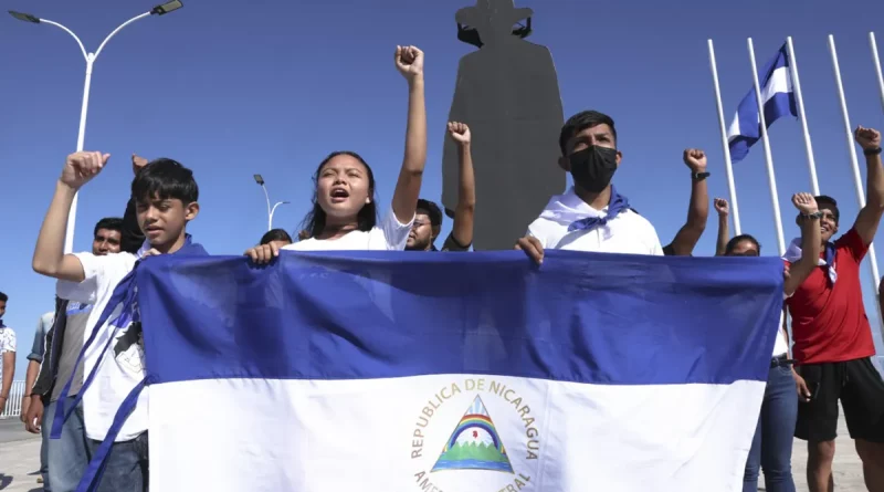
POLYGON ((427 104, 423 94, 423 52, 415 46, 396 46, 396 67, 408 81, 406 156, 396 182, 392 208, 401 223, 414 219, 427 164, 427 104))

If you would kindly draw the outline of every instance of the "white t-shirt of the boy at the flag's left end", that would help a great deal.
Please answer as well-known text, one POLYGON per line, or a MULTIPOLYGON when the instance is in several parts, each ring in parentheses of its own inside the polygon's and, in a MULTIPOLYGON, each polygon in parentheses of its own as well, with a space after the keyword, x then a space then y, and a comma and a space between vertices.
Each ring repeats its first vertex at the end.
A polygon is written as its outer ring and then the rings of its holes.
MULTIPOLYGON (((93 305, 83 333, 84 344, 110 301, 114 289, 131 272, 135 262, 145 251, 146 247, 141 247, 137 255, 116 253, 96 257, 92 253, 74 253, 83 264, 86 278, 81 283, 60 280, 55 284, 55 294, 61 299, 93 305)), ((84 375, 87 376, 98 362, 98 356, 114 332, 110 321, 116 318, 119 312, 120 308, 117 307, 112 313, 86 352, 83 363, 84 375)), ((104 440, 123 400, 145 378, 144 347, 138 341, 126 336, 129 324, 130 322, 126 326, 120 326, 114 335, 116 342, 110 343, 92 386, 83 395, 83 419, 90 439, 104 440)), ((57 384, 65 385, 67 381, 57 384)), ((147 430, 147 401, 148 388, 144 388, 135 409, 117 435, 117 442, 135 439, 147 430)))

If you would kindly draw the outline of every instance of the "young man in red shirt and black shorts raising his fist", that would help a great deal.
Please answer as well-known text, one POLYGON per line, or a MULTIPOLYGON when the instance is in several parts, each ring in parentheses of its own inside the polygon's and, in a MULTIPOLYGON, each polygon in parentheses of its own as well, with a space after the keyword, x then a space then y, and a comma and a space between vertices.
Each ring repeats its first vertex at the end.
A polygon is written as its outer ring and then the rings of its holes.
MULTIPOLYGON (((867 202, 853 227, 830 242, 839 229, 838 203, 831 197, 817 197, 822 214, 820 266, 787 301, 801 401, 794 436, 808 441, 811 492, 834 488, 839 399, 863 462, 865 485, 884 491, 884 380, 872 364, 875 345, 860 287, 860 262, 884 214, 884 169, 881 134, 857 127, 855 138, 866 159, 867 202)), ((787 251, 787 261, 794 258, 794 248, 787 251)))

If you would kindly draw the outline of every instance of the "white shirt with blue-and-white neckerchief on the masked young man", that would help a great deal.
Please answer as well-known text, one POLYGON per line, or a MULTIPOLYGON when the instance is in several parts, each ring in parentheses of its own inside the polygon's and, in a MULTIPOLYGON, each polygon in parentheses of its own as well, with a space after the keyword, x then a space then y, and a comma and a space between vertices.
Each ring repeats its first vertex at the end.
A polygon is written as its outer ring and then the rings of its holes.
POLYGON ((528 234, 550 250, 663 255, 654 227, 632 210, 620 212, 607 224, 592 230, 568 232, 573 221, 604 217, 607 210, 608 207, 593 209, 571 188, 549 200, 540 217, 528 226, 528 234))

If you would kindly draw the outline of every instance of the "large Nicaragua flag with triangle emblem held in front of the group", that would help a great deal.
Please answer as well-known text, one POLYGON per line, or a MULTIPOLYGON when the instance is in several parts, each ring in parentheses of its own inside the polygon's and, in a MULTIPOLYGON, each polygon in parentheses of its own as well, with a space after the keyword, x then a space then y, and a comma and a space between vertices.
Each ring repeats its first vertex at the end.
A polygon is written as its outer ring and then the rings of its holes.
POLYGON ((151 257, 152 490, 741 490, 777 258, 151 257))

